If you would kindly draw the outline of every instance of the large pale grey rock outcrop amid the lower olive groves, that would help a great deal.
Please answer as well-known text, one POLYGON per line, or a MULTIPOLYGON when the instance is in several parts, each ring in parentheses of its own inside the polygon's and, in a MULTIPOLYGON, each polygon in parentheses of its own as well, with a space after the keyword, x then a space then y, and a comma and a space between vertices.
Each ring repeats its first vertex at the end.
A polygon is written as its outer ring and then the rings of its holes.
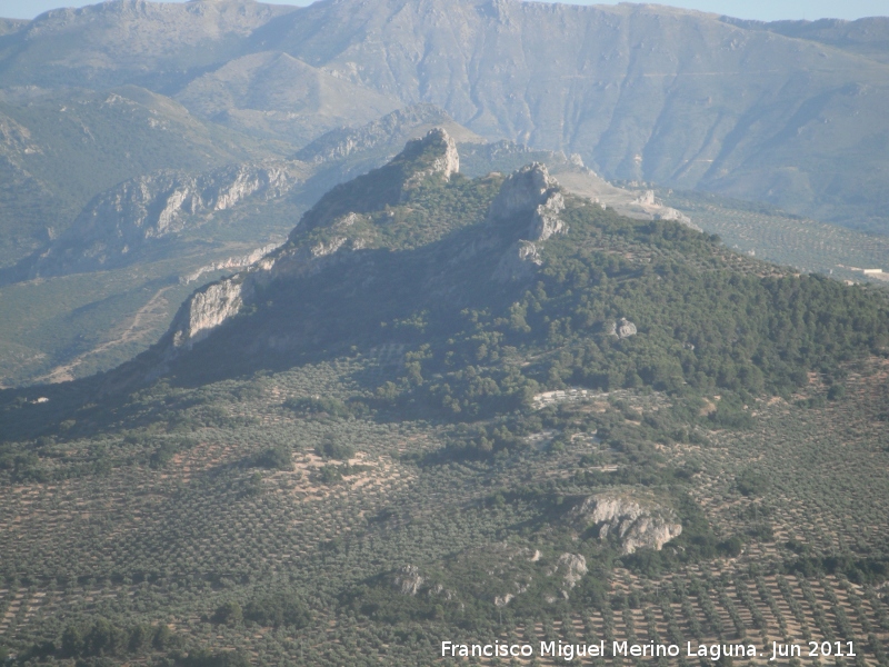
POLYGON ((598 527, 600 539, 617 535, 625 554, 642 547, 660 551, 682 534, 673 511, 649 498, 599 494, 583 500, 571 514, 585 529, 598 527))

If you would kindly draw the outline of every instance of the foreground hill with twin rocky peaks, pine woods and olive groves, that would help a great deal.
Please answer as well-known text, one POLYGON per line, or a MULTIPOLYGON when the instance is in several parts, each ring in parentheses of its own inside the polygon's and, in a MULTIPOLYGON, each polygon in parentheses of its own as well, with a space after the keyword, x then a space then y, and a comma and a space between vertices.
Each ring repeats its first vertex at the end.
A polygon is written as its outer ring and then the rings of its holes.
POLYGON ((765 664, 826 636, 883 659, 885 296, 459 162, 432 130, 148 352, 0 391, 19 657, 431 665, 582 636, 765 664))

